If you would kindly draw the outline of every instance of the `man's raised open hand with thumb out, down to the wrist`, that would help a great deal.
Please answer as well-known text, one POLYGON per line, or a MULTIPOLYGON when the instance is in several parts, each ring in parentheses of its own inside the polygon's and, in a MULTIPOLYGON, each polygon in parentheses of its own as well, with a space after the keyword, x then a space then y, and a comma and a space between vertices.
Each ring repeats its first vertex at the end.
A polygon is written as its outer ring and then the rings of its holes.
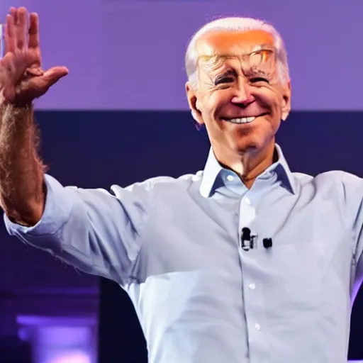
POLYGON ((39 18, 25 8, 11 8, 6 16, 5 55, 0 60, 0 104, 24 106, 43 96, 66 67, 42 69, 39 45, 39 18))

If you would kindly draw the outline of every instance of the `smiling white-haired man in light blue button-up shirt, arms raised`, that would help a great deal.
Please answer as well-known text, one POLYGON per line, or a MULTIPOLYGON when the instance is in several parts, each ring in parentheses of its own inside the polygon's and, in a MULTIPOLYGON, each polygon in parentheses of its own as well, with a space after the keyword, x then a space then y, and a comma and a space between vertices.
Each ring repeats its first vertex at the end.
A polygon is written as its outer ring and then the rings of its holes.
POLYGON ((127 188, 64 187, 36 152, 32 102, 67 69, 43 71, 38 16, 7 18, 0 62, 0 196, 6 228, 135 304, 152 363, 341 363, 362 280, 363 182, 292 173, 275 144, 291 107, 272 26, 207 24, 186 52, 186 94, 211 152, 203 172, 127 188))

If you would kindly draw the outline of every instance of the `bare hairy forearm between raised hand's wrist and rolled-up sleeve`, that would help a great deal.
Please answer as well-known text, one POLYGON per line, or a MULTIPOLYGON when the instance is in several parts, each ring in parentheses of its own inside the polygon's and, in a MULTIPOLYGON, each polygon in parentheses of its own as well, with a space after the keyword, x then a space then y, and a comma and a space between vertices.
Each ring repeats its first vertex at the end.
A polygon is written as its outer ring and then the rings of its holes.
POLYGON ((0 201, 6 215, 23 225, 37 223, 45 204, 37 148, 33 107, 0 106, 0 201))

